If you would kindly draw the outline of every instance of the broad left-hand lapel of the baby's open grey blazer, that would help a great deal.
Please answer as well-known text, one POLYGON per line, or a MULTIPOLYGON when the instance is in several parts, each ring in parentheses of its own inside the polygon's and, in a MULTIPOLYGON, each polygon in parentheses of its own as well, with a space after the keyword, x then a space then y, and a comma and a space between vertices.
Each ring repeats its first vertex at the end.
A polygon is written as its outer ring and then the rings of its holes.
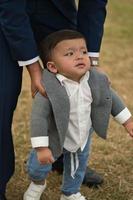
POLYGON ((50 73, 48 70, 44 70, 43 78, 44 87, 52 105, 58 133, 65 133, 68 129, 70 113, 68 95, 54 74, 50 73))

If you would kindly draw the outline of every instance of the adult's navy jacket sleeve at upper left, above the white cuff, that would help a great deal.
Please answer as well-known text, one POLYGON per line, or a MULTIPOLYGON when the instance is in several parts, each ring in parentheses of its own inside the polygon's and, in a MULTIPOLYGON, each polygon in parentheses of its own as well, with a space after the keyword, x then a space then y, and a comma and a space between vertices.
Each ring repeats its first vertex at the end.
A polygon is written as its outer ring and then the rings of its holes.
POLYGON ((25 0, 0 1, 0 28, 14 60, 27 61, 38 56, 25 0))

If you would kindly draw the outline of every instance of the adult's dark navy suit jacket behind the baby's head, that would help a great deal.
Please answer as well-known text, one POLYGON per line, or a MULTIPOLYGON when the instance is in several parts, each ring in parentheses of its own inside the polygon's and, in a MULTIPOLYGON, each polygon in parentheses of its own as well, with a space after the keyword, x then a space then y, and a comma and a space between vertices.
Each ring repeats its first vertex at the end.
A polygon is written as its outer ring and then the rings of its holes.
POLYGON ((35 40, 64 28, 77 28, 86 36, 89 51, 98 52, 106 3, 80 0, 77 12, 74 0, 0 0, 0 31, 14 60, 37 56, 35 40))

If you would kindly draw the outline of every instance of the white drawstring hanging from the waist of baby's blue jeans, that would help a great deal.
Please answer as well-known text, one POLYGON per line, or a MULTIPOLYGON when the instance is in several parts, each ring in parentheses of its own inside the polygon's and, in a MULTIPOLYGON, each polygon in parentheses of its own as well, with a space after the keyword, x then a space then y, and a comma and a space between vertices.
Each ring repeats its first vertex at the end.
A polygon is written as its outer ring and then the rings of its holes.
POLYGON ((79 159, 77 153, 71 153, 70 156, 71 156, 71 177, 74 179, 76 171, 79 167, 79 159))

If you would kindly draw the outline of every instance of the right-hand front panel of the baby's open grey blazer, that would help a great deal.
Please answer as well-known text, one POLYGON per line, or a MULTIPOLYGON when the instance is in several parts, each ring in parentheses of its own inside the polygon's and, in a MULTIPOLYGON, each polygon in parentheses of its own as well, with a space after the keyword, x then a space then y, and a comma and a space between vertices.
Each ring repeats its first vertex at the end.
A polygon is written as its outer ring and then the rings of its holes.
POLYGON ((105 76, 95 69, 90 70, 89 85, 92 92, 91 119, 95 132, 106 138, 109 116, 112 107, 112 97, 105 76))

